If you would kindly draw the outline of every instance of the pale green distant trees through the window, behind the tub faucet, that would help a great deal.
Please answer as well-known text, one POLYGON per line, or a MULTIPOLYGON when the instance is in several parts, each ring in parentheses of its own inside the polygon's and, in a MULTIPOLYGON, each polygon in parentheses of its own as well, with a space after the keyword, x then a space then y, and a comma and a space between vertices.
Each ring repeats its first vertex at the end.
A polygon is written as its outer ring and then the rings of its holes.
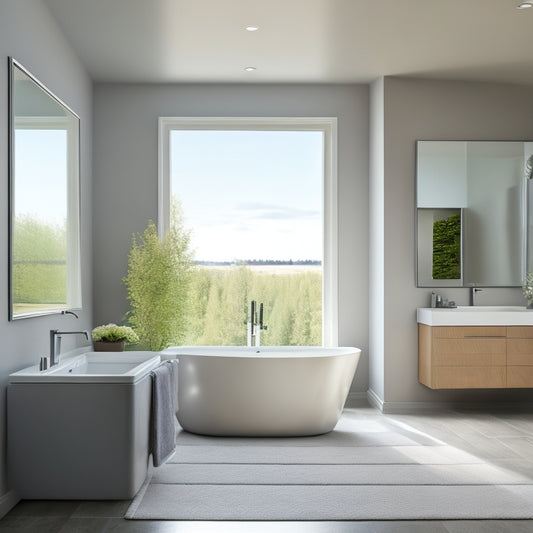
POLYGON ((261 344, 322 344, 322 271, 254 271, 245 265, 193 273, 185 345, 246 345, 250 302, 264 304, 261 344))

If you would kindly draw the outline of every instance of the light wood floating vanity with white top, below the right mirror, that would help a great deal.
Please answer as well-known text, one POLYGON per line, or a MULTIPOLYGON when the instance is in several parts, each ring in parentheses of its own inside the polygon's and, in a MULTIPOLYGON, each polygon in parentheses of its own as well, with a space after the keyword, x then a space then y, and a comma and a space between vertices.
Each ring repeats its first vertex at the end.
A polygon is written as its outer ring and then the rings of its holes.
MULTIPOLYGON (((533 312, 524 315, 517 309, 520 314, 514 322, 533 319, 533 312)), ((420 383, 431 389, 533 387, 533 325, 448 325, 463 320, 465 314, 456 311, 458 317, 454 318, 433 313, 436 319, 428 319, 420 311, 430 310, 418 311, 420 383), (436 325, 443 322, 446 325, 436 325)), ((503 322, 507 318, 513 323, 511 315, 491 320, 482 311, 477 314, 480 320, 476 322, 503 322)))

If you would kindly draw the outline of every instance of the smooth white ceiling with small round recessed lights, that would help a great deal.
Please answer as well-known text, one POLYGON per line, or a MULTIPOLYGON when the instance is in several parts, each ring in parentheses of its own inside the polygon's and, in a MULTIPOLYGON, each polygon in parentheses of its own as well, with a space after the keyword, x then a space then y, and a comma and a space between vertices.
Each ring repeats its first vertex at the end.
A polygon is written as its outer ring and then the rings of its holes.
POLYGON ((533 8, 519 0, 45 2, 96 81, 533 84, 533 8))

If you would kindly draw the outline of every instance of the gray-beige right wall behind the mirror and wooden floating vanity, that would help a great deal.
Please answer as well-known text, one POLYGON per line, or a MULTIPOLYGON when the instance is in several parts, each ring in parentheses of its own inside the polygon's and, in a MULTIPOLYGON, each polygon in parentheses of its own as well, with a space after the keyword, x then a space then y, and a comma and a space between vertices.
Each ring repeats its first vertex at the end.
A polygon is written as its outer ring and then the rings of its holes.
MULTIPOLYGON (((372 97, 374 98, 374 93, 372 97)), ((533 138, 531 88, 420 79, 384 79, 384 331, 385 410, 411 402, 498 401, 531 398, 530 391, 432 391, 418 383, 416 308, 431 289, 415 284, 415 143, 417 140, 528 140, 533 138)), ((372 179, 379 179, 372 174, 372 179)), ((371 186, 371 189, 375 185, 371 186)), ((372 215, 372 220, 374 214, 372 215)), ((443 289, 458 305, 468 290, 443 289)), ((520 288, 484 289, 480 305, 524 305, 520 288)), ((371 357, 374 353, 371 352, 371 357)), ((376 354, 379 358, 379 353, 376 354)))

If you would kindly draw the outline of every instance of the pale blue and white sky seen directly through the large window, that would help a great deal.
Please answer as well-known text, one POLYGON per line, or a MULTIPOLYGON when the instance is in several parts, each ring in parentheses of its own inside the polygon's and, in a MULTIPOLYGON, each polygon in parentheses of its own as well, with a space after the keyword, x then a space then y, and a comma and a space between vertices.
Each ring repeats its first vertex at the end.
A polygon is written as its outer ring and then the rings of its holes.
POLYGON ((174 130, 171 194, 198 261, 322 260, 323 133, 174 130))

